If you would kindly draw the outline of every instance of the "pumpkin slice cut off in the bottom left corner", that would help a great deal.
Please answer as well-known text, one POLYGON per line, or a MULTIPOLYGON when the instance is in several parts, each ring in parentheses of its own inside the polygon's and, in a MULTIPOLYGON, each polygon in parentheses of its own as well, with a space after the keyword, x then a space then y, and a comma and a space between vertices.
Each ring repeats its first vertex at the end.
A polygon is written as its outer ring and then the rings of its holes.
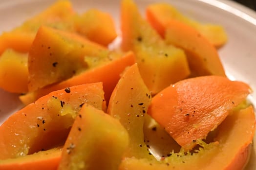
POLYGON ((39 151, 13 159, 0 160, 0 170, 57 170, 62 150, 39 151))

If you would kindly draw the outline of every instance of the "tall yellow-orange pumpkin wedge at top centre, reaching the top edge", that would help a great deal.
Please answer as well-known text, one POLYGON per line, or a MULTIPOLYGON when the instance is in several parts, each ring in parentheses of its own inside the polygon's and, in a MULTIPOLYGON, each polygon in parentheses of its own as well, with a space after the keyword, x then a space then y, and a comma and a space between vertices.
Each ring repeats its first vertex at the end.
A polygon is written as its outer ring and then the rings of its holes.
POLYGON ((132 0, 122 0, 121 31, 123 50, 134 51, 140 74, 153 94, 190 75, 184 51, 167 45, 132 0))

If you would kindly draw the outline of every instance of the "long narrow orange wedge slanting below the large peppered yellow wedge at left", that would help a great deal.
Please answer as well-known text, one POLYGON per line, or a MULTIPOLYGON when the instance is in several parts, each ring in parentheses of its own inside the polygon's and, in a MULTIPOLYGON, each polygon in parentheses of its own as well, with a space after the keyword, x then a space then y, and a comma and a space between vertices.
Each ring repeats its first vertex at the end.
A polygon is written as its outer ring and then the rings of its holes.
POLYGON ((55 90, 60 90, 62 88, 73 85, 103 82, 105 100, 108 103, 110 95, 115 88, 118 80, 120 79, 120 74, 125 70, 126 67, 131 66, 134 63, 135 56, 133 52, 127 52, 126 54, 124 54, 123 57, 107 62, 99 67, 91 68, 65 81, 53 85, 47 85, 34 92, 29 92, 25 95, 21 95, 20 100, 23 104, 27 105, 55 90), (113 71, 113 68, 115 68, 115 71, 113 71))

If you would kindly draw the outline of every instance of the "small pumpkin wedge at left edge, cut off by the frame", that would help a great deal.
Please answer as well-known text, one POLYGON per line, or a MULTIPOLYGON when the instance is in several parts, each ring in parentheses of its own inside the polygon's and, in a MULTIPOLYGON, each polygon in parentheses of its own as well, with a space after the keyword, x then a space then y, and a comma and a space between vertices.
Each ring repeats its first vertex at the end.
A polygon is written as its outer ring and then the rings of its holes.
POLYGON ((8 49, 0 56, 0 88, 11 93, 26 93, 27 54, 8 49))

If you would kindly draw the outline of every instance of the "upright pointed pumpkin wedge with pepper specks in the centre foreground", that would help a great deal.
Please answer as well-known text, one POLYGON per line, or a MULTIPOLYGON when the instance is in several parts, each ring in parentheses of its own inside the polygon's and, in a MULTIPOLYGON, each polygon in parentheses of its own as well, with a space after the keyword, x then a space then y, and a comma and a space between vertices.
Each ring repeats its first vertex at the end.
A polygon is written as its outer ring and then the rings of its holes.
POLYGON ((151 94, 140 76, 137 64, 128 68, 109 100, 107 113, 127 129, 129 146, 125 157, 153 159, 144 142, 143 125, 151 94))

